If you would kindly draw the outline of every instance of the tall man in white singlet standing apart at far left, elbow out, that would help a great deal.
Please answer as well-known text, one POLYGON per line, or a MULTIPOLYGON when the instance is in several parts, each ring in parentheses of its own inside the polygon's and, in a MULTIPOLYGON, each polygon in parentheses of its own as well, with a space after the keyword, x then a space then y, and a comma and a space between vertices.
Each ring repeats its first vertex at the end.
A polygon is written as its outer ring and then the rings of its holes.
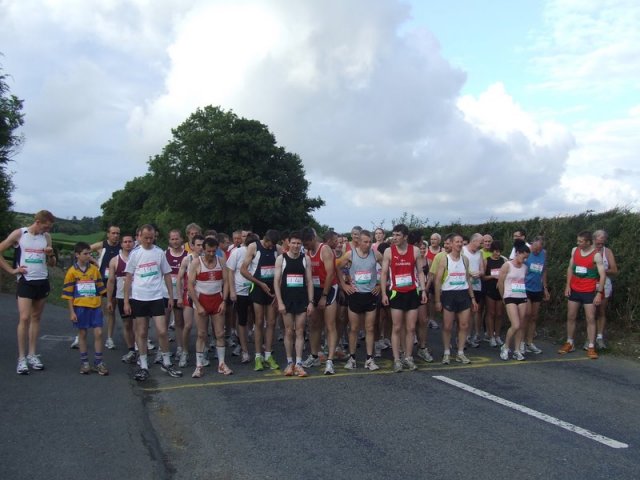
POLYGON ((29 368, 44 369, 36 348, 40 335, 40 319, 50 291, 47 265, 53 267, 56 264, 49 235, 54 221, 55 217, 51 212, 40 210, 36 213, 33 224, 14 230, 0 243, 0 267, 18 277, 16 298, 19 319, 16 372, 19 375, 28 375, 29 368), (11 267, 3 255, 5 250, 11 247, 15 249, 16 268, 11 267))

